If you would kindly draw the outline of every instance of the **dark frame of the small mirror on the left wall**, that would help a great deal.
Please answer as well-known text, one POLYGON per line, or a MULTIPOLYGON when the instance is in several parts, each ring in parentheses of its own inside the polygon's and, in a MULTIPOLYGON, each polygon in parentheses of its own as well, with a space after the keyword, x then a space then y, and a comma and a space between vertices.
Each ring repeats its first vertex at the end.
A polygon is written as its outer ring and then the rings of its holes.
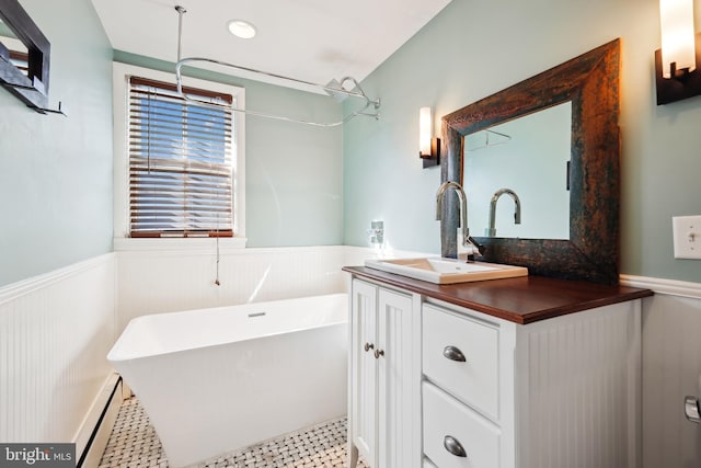
POLYGON ((27 48, 28 76, 9 60, 0 42, 0 84, 27 106, 43 112, 48 107, 50 44, 18 0, 0 0, 0 19, 27 48))

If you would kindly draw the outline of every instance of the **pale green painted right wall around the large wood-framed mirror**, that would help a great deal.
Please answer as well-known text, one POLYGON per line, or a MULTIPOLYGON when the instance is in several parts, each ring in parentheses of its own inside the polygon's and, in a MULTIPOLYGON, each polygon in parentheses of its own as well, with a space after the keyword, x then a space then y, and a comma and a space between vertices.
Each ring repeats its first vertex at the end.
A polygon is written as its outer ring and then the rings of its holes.
MULTIPOLYGON (((344 242, 366 246, 379 218, 391 247, 438 253, 440 171, 423 170, 416 156, 418 109, 433 106, 439 125, 621 37, 621 272, 701 282, 701 261, 675 260, 671 243, 673 216, 701 215, 701 98, 655 103, 658 9, 658 0, 453 0, 363 82, 381 96, 382 117, 344 128, 344 242)), ((700 28, 701 0, 694 11, 700 28)))

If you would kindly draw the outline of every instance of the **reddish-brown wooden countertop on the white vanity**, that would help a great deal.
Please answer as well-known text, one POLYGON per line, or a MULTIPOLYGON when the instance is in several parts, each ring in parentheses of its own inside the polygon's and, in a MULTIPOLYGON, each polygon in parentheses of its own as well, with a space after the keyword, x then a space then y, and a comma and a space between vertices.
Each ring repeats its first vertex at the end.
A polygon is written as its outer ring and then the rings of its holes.
POLYGON ((653 295, 650 289, 545 276, 438 285, 365 266, 343 271, 521 324, 653 295))

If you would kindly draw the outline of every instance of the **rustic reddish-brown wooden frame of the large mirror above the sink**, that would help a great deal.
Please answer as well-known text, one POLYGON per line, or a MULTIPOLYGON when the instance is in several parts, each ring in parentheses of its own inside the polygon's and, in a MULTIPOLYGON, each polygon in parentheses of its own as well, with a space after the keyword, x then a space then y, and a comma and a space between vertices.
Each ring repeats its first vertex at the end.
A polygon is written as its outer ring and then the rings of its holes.
MULTIPOLYGON (((536 275, 619 282, 619 68, 617 38, 443 117, 441 180, 460 183, 464 135, 572 101, 570 239, 475 236, 486 248, 482 260, 536 275)), ((443 216, 441 254, 455 258, 457 202, 444 203, 443 216)))

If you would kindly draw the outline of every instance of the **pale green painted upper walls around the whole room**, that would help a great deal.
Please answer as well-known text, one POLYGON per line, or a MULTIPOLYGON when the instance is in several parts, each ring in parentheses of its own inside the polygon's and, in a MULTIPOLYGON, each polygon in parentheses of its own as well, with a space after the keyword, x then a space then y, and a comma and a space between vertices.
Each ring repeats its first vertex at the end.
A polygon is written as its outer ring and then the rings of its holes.
MULTIPOLYGON (((88 0, 21 3, 51 42, 51 104, 69 117, 36 114, 0 89, 0 285, 111 251, 111 61, 145 65, 113 54, 88 0)), ((701 24, 701 0, 694 8, 701 24)), ((380 121, 342 132, 248 119, 249 246, 365 246, 370 220, 383 219, 390 247, 439 252, 440 173, 417 160, 418 107, 433 106, 438 124, 621 37, 621 271, 701 282, 700 262, 674 259, 670 221, 701 214, 701 98, 655 104, 658 21, 657 0, 453 0, 364 81, 382 99, 380 121)), ((230 80, 251 109, 340 114, 323 96, 230 80)))

